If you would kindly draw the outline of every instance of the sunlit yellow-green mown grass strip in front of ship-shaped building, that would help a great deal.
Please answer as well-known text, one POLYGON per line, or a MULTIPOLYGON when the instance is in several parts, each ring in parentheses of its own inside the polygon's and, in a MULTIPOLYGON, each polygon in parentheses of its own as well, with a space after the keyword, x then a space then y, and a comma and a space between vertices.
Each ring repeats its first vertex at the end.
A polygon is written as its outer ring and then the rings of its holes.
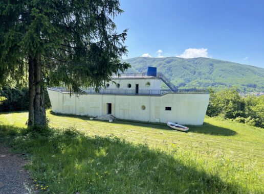
MULTIPOLYGON (((254 157, 264 162, 264 131, 263 129, 228 122, 217 118, 205 118, 204 126, 190 127, 188 133, 169 130, 166 125, 151 125, 133 122, 116 121, 115 123, 90 120, 86 117, 62 116, 50 114, 50 126, 55 128, 73 127, 89 135, 114 135, 134 143, 147 143, 151 148, 168 150, 172 143, 181 148, 207 155, 207 143, 213 154, 223 153, 236 160, 245 162, 254 157)), ((26 127, 28 113, 3 113, 0 120, 5 124, 26 127)), ((212 155, 213 155, 212 154, 212 155)))

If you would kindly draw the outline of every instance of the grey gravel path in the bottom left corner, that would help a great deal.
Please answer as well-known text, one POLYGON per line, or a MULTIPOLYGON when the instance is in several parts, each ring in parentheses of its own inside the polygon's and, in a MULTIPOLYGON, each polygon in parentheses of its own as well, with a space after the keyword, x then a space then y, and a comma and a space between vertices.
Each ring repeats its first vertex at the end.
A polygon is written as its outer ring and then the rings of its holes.
POLYGON ((27 185, 32 181, 21 166, 27 162, 21 154, 8 152, 0 146, 0 193, 31 193, 27 185))

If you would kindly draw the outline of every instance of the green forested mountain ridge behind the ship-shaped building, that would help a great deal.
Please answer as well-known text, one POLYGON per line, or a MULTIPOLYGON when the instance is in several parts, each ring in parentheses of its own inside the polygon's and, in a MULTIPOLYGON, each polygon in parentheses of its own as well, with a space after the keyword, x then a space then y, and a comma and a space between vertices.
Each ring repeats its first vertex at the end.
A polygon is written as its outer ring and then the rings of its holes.
POLYGON ((264 68, 210 58, 136 57, 123 60, 132 66, 127 72, 146 72, 157 67, 180 89, 208 88, 219 91, 237 86, 241 92, 264 91, 264 68))

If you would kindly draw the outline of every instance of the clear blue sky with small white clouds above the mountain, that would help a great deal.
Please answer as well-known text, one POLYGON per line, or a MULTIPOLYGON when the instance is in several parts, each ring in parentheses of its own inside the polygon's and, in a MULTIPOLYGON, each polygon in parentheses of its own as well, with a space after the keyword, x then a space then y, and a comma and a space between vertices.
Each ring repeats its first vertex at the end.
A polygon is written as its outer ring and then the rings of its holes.
MULTIPOLYGON (((264 68, 264 1, 120 0, 127 58, 210 57, 264 68)), ((124 59, 126 57, 123 57, 124 59)))

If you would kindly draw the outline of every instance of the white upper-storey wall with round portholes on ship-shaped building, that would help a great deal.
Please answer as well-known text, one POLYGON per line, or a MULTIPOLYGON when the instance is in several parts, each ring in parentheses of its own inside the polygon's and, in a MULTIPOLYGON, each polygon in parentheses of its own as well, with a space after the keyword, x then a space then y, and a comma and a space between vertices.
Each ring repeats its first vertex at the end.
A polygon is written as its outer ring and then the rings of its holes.
MULTIPOLYGON (((120 84, 119 89, 136 89, 136 84, 139 84, 139 89, 161 89, 161 80, 159 78, 152 79, 113 79, 116 83, 120 84), (149 82, 150 86, 146 83, 149 82), (131 84, 131 88, 127 87, 127 84, 131 84)), ((117 86, 113 82, 107 82, 109 87, 106 89, 117 89, 117 86)), ((106 83, 106 84, 107 84, 106 83)))

